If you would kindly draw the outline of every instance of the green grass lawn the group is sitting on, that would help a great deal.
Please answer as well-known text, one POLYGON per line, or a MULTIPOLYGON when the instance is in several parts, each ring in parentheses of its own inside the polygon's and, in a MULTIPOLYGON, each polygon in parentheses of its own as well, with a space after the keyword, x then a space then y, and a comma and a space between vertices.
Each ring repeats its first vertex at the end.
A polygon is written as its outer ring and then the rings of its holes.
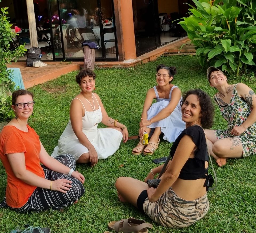
MULTIPOLYGON (((181 91, 200 88, 212 97, 216 90, 209 86, 206 70, 198 63, 197 56, 160 57, 155 61, 130 69, 95 70, 96 90, 110 117, 124 123, 129 136, 138 135, 139 121, 146 92, 156 84, 155 68, 163 63, 176 66, 177 75, 173 84, 181 91)), ((33 127, 51 154, 57 145, 69 120, 69 105, 78 93, 75 75, 71 72, 61 77, 37 85, 29 90, 34 93, 34 115, 29 119, 33 127)), ((230 84, 239 80, 230 80, 230 84)), ((256 91, 254 80, 244 80, 256 91)), ((216 106, 216 105, 215 105, 216 106)), ((213 129, 225 129, 226 122, 216 106, 213 129)), ((100 125, 99 127, 103 127, 100 125)), ((17 225, 50 227, 52 232, 104 232, 107 223, 122 218, 135 217, 154 225, 151 233, 160 232, 255 232, 256 231, 256 160, 255 156, 245 159, 229 159, 227 165, 219 168, 214 162, 218 177, 218 187, 208 192, 210 210, 197 223, 184 229, 167 229, 153 223, 135 207, 121 203, 117 198, 115 180, 119 176, 130 176, 139 180, 156 165, 152 159, 167 156, 171 144, 160 142, 153 156, 133 156, 132 148, 138 140, 121 143, 118 151, 108 159, 90 168, 77 165, 85 176, 85 195, 76 205, 63 211, 45 211, 43 213, 19 214, 0 209, 0 232, 10 232, 17 225)), ((209 170, 211 172, 211 168, 209 170)), ((0 163, 0 200, 5 196, 6 174, 0 163)))

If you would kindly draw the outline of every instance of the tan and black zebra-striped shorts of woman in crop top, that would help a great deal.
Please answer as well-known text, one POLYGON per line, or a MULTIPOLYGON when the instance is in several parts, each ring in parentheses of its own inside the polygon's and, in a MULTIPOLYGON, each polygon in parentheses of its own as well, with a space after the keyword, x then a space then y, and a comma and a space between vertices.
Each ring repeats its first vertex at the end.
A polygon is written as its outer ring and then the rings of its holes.
POLYGON ((189 226, 203 218, 209 210, 207 193, 194 201, 179 198, 169 188, 157 202, 147 198, 143 210, 154 222, 169 228, 189 226))

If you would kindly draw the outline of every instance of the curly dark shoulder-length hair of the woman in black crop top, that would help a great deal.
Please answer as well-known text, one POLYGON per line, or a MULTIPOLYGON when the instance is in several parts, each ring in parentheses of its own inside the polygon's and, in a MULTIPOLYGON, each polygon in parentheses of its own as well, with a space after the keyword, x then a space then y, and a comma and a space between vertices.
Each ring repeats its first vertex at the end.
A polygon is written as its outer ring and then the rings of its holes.
POLYGON ((213 125, 214 118, 214 106, 210 96, 201 89, 189 90, 182 95, 181 106, 189 95, 197 95, 202 114, 201 125, 205 129, 210 129, 213 125))

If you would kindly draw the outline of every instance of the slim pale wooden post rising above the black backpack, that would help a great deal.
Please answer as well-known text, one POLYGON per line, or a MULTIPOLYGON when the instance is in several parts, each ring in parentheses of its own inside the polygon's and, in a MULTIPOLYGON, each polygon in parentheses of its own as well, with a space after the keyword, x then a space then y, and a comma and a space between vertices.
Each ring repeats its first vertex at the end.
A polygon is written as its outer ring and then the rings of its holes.
POLYGON ((34 3, 33 3, 33 0, 26 0, 26 2, 27 2, 27 18, 29 20, 30 44, 31 44, 31 47, 38 47, 34 3))

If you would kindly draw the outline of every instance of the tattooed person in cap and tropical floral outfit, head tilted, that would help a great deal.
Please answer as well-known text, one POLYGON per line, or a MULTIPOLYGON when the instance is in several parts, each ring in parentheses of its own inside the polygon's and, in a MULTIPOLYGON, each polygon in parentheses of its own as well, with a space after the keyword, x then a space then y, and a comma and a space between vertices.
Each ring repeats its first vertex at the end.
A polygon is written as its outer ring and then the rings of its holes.
POLYGON ((207 69, 210 86, 221 115, 228 124, 227 130, 205 130, 211 156, 221 167, 227 158, 241 158, 256 154, 256 96, 247 85, 230 85, 227 77, 215 67, 207 69))

